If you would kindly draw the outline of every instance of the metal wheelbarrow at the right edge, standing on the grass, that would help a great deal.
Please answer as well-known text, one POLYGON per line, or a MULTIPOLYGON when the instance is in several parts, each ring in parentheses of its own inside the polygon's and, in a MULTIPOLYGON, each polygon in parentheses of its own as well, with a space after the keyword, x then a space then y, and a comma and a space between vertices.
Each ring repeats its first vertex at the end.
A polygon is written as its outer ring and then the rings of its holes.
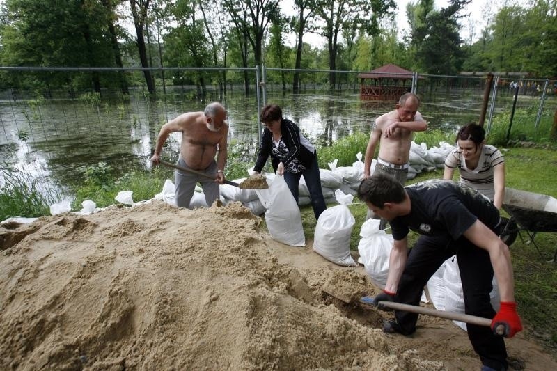
POLYGON ((533 244, 540 256, 549 262, 557 262, 557 250, 553 258, 547 258, 535 242, 538 232, 557 232, 557 200, 544 194, 505 188, 503 210, 510 219, 505 224, 501 235, 518 232, 522 242, 533 244), (520 232, 526 232, 526 239, 520 232))

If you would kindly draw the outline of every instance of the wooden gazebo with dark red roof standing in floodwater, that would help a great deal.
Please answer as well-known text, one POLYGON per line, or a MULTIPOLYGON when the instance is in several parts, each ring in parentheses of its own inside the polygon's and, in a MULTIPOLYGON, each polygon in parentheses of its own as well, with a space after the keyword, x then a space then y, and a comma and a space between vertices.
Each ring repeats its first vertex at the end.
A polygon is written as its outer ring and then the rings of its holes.
POLYGON ((396 101, 412 88, 414 72, 391 63, 370 72, 358 74, 361 100, 396 101))

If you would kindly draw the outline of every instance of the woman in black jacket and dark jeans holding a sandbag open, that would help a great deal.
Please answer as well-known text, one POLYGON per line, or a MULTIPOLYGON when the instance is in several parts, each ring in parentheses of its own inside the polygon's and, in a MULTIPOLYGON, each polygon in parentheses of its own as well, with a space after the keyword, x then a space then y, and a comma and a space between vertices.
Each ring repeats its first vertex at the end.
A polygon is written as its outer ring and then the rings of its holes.
POLYGON ((298 187, 300 178, 304 175, 311 198, 311 207, 315 219, 327 209, 321 189, 321 176, 317 164, 317 150, 300 128, 292 121, 283 118, 280 106, 267 104, 261 112, 261 122, 265 125, 261 138, 261 145, 253 167, 255 173, 260 173, 265 162, 271 156, 271 163, 278 175, 284 175, 292 196, 298 203, 298 187))

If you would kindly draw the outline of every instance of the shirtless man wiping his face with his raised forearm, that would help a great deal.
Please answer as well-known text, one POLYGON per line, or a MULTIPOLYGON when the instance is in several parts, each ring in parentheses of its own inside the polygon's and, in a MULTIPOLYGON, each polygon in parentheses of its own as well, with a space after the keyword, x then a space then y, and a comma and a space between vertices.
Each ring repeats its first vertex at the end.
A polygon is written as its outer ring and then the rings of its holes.
MULTIPOLYGON (((408 175, 410 145, 413 132, 423 132, 427 123, 418 112, 420 98, 413 93, 405 93, 398 100, 394 111, 385 113, 373 123, 368 148, 363 164, 363 179, 371 175, 371 160, 375 148, 379 145, 379 156, 373 173, 388 173, 404 185, 408 175)), ((368 219, 373 213, 368 210, 368 219)), ((386 221, 382 219, 379 228, 384 229, 386 221)))

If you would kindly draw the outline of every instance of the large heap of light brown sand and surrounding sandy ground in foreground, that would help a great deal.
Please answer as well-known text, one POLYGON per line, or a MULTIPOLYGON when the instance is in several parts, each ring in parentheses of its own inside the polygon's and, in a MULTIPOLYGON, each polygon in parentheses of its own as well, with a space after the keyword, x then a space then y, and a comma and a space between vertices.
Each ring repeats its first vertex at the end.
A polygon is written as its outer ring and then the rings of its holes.
MULTIPOLYGON (((4 223, 0 369, 479 370, 451 322, 382 333, 389 313, 357 303, 378 291, 363 267, 259 225, 240 203, 162 201, 4 223)), ((507 345, 513 369, 557 370, 528 331, 507 345)))

